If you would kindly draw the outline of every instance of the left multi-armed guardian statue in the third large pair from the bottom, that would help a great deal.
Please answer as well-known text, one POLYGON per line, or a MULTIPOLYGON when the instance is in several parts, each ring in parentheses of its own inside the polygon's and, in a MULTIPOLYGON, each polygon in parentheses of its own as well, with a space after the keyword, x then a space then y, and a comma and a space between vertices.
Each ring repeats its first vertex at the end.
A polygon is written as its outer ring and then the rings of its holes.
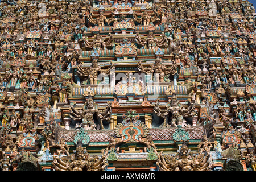
MULTIPOLYGON (((112 64, 108 69, 101 69, 98 65, 98 61, 93 59, 92 65, 90 68, 82 68, 80 65, 77 67, 77 75, 82 80, 88 78, 90 84, 98 84, 98 75, 99 73, 104 73, 104 75, 110 73, 110 69, 115 68, 114 64, 112 64)), ((103 77, 104 78, 104 77, 103 77)))

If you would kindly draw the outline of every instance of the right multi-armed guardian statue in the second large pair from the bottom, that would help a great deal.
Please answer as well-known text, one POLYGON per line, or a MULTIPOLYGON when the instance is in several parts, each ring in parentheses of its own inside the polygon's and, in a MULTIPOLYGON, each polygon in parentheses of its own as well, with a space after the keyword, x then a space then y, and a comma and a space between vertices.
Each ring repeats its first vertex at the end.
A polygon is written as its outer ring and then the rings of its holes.
POLYGON ((160 109, 159 105, 155 105, 154 112, 165 119, 163 127, 188 126, 185 118, 192 118, 195 115, 195 107, 191 104, 187 109, 183 108, 174 94, 166 109, 160 109))

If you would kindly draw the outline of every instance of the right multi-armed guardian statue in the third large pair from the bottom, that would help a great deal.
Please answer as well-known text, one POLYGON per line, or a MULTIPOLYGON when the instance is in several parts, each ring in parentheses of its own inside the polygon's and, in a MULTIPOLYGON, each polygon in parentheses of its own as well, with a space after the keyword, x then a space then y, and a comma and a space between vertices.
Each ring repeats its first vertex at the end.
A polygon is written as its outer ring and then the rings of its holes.
POLYGON ((172 61, 173 65, 171 67, 166 67, 166 65, 161 63, 159 57, 156 58, 155 64, 150 65, 150 68, 143 67, 142 63, 138 63, 138 69, 142 73, 151 74, 151 78, 154 74, 155 82, 166 82, 165 78, 167 75, 174 75, 177 72, 177 63, 172 61))

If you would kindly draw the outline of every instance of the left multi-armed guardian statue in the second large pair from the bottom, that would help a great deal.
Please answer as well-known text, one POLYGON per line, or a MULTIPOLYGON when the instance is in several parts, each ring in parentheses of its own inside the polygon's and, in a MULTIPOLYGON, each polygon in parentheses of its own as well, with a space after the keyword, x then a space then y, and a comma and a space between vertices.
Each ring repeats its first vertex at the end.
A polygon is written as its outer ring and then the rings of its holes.
POLYGON ((105 110, 99 111, 97 104, 90 95, 82 109, 82 111, 79 111, 73 107, 70 108, 73 121, 79 123, 79 126, 84 127, 85 130, 104 129, 102 121, 109 121, 110 119, 109 102, 105 110))

